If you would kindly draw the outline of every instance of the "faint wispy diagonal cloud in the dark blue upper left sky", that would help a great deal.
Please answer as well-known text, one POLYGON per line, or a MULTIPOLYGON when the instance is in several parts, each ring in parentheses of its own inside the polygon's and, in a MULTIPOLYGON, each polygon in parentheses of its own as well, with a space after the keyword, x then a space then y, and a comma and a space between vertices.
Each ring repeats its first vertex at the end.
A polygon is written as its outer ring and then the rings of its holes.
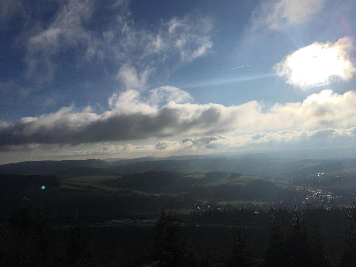
MULTIPOLYGON (((56 70, 56 58, 68 47, 86 47, 85 53, 91 53, 92 34, 84 28, 93 14, 93 2, 89 0, 70 0, 58 10, 50 25, 37 31, 27 41, 27 77, 39 85, 51 82, 56 70)), ((81 51, 82 52, 82 51, 81 51)))

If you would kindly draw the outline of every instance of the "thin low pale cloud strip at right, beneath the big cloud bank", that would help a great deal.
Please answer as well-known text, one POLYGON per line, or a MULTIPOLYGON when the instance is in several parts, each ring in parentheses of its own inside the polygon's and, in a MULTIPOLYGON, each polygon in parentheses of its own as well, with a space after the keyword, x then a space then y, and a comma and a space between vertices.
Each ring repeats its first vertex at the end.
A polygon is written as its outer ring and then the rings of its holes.
POLYGON ((238 136, 214 135, 200 138, 186 137, 180 141, 159 141, 156 150, 165 151, 226 151, 252 148, 333 147, 356 140, 356 127, 350 129, 321 129, 314 131, 258 132, 238 136))

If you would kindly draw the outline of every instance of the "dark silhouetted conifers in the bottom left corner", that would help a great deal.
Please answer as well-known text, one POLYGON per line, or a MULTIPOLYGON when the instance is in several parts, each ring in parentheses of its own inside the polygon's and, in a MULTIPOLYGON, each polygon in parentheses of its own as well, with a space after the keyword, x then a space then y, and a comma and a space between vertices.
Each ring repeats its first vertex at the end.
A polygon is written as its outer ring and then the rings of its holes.
POLYGON ((77 211, 67 251, 57 243, 42 206, 24 197, 0 233, 0 266, 94 266, 87 229, 77 211))

